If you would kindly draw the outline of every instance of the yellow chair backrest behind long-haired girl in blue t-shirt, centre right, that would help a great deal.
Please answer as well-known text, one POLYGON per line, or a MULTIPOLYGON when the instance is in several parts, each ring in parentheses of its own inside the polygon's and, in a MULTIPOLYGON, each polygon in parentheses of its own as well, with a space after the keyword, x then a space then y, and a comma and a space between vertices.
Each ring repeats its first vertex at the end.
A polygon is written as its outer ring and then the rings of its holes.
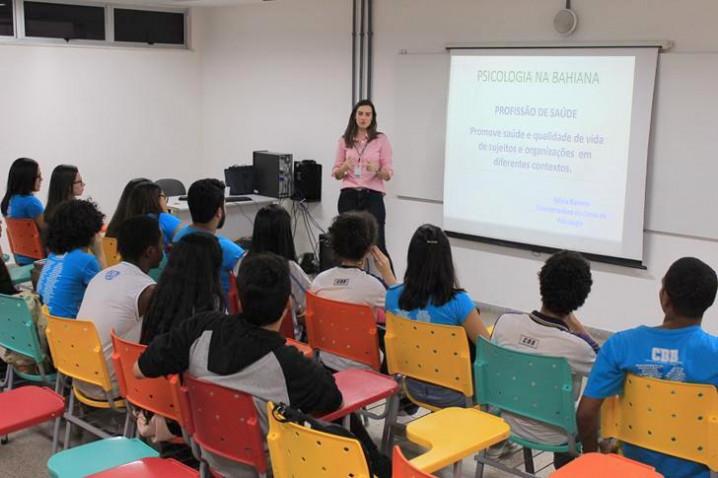
POLYGON ((390 374, 400 374, 474 394, 471 353, 463 327, 438 325, 387 312, 386 363, 390 374))

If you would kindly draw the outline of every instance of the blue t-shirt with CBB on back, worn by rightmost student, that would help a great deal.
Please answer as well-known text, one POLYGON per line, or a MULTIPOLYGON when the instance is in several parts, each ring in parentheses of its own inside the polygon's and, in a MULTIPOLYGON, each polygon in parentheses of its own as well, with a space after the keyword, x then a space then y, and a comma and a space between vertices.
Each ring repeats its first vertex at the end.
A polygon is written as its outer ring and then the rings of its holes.
MULTIPOLYGON (((681 329, 637 327, 619 332, 601 347, 584 395, 603 399, 623 389, 626 373, 718 386, 718 337, 699 325, 681 329)), ((633 445, 624 454, 671 478, 705 477, 708 468, 633 445)))

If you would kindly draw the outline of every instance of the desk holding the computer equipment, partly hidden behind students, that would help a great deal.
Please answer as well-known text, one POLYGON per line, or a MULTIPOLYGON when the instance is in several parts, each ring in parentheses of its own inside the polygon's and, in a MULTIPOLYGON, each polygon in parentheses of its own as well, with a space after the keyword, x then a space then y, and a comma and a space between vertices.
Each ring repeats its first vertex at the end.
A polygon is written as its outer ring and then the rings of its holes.
MULTIPOLYGON (((251 237, 254 230, 254 216, 257 211, 268 204, 279 202, 277 198, 259 196, 258 194, 244 194, 243 196, 247 196, 252 200, 226 203, 227 219, 224 222, 224 227, 217 231, 218 234, 233 241, 244 236, 251 237)), ((170 214, 177 216, 184 224, 192 223, 187 201, 180 201, 179 196, 171 196, 167 200, 167 207, 170 214)))

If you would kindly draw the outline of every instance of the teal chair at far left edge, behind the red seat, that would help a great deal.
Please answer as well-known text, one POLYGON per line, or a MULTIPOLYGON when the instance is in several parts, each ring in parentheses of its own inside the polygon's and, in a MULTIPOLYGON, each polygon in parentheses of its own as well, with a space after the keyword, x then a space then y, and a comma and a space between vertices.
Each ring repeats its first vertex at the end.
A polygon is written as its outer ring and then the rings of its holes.
POLYGON ((45 370, 47 354, 40 346, 37 325, 22 297, 0 294, 0 346, 31 358, 38 364, 40 372, 35 375, 8 367, 0 387, 12 389, 15 375, 29 382, 49 386, 55 382, 56 375, 45 370))

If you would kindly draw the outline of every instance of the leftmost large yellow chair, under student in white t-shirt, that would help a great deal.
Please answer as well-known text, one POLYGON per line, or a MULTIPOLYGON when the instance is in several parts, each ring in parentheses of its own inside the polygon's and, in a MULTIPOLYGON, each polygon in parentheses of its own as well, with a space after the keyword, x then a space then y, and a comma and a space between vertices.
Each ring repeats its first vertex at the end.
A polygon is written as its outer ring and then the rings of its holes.
MULTIPOLYGON (((52 361, 57 369, 55 391, 62 393, 64 380, 68 378, 71 381, 81 380, 96 385, 105 394, 105 400, 95 400, 78 390, 74 383, 72 384, 72 393, 63 415, 66 421, 64 448, 66 449, 69 445, 70 430, 73 424, 100 438, 111 437, 112 435, 106 431, 74 415, 75 399, 93 408, 125 412, 124 400, 113 400, 110 374, 107 370, 102 344, 97 335, 95 324, 85 320, 54 317, 48 313, 47 307, 43 307, 42 313, 47 317, 45 334, 47 335, 52 361)), ((58 419, 55 423, 53 444, 57 443, 59 427, 60 422, 58 419)), ((125 422, 126 427, 127 421, 125 422)), ((53 449, 53 453, 54 451, 53 449)))

